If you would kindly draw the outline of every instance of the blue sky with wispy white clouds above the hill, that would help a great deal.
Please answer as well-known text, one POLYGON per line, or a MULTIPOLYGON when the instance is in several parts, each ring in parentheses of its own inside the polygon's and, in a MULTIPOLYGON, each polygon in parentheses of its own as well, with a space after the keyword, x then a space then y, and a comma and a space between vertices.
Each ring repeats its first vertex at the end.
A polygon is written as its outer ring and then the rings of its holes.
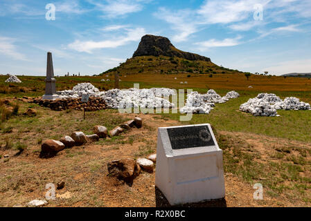
POLYGON ((48 51, 55 75, 102 73, 145 34, 227 68, 311 73, 310 0, 1 0, 0 73, 45 75, 48 51))

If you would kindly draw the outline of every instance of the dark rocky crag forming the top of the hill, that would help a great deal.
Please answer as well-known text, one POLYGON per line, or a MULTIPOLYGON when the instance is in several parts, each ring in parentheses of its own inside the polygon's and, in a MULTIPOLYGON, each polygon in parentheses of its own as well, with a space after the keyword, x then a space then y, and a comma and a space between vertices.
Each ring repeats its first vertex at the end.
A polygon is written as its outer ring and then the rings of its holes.
POLYGON ((148 55, 181 57, 190 61, 211 61, 208 57, 178 50, 168 38, 154 35, 145 35, 141 38, 139 48, 134 52, 133 57, 148 55))

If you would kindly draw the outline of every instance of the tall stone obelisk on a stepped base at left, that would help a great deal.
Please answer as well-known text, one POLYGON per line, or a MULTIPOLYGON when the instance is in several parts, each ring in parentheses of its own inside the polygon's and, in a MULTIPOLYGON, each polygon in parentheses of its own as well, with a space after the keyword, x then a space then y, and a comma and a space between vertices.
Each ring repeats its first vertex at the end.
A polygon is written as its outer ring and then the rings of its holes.
POLYGON ((52 53, 48 52, 47 64, 46 64, 46 79, 45 79, 45 95, 42 99, 57 99, 59 96, 56 94, 53 59, 52 53))

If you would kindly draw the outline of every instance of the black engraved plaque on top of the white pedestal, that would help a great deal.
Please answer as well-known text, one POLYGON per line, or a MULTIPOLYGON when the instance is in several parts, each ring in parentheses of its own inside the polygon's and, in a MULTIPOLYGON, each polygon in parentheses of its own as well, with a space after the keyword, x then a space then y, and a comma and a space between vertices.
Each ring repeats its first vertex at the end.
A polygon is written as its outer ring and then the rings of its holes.
POLYGON ((208 126, 183 126, 168 128, 168 137, 173 150, 199 146, 215 146, 208 126))

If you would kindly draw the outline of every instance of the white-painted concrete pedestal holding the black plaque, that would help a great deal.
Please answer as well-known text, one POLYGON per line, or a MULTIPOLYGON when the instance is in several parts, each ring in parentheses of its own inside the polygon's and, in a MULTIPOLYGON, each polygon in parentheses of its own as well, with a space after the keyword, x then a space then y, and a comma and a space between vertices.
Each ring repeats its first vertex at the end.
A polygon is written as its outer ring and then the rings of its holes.
MULTIPOLYGON (((157 140, 156 186, 171 205, 224 198, 224 168, 211 126, 215 146, 172 149, 167 127, 159 128, 157 140)), ((179 126, 185 127, 185 126, 179 126)))

